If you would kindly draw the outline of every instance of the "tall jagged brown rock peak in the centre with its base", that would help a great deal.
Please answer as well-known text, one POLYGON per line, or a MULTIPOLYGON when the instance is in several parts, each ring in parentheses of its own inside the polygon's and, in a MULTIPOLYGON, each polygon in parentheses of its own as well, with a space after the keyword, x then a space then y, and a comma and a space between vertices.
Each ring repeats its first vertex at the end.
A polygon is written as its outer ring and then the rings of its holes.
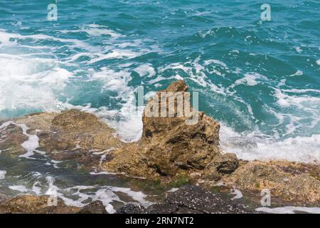
MULTIPOLYGON (((112 172, 126 172, 149 178, 176 177, 186 175, 209 179, 219 178, 223 173, 233 172, 238 166, 235 155, 223 155, 218 147, 220 125, 202 112, 191 108, 197 115, 195 124, 187 124, 190 116, 178 115, 177 93, 184 95, 188 86, 184 81, 172 83, 149 100, 144 110, 142 139, 112 152, 113 160, 102 166, 112 172), (166 101, 160 97, 166 95, 166 101), (174 100, 172 117, 161 117, 161 105, 174 100), (162 102, 161 102, 162 100, 162 102), (158 104, 155 104, 158 103, 158 104), (159 110, 152 110, 158 107, 159 110), (148 111, 156 113, 150 116, 148 111)), ((186 103, 186 100, 184 100, 186 103)), ((169 105, 166 105, 169 113, 169 105)))

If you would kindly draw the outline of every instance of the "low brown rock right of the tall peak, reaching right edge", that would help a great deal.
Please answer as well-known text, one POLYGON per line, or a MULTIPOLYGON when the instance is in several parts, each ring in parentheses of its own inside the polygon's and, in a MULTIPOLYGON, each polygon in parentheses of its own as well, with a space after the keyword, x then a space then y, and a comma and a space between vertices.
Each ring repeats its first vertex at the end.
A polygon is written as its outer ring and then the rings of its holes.
POLYGON ((240 190, 268 189, 286 201, 320 202, 320 166, 287 161, 245 162, 225 182, 240 190))

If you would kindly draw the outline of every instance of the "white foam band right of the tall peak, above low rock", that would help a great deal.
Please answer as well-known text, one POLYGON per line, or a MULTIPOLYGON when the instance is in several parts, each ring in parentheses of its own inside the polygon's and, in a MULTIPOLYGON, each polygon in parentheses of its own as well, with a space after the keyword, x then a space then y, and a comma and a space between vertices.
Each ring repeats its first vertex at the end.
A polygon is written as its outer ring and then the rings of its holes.
POLYGON ((221 124, 220 147, 243 160, 320 162, 320 135, 280 140, 258 132, 242 135, 221 124))

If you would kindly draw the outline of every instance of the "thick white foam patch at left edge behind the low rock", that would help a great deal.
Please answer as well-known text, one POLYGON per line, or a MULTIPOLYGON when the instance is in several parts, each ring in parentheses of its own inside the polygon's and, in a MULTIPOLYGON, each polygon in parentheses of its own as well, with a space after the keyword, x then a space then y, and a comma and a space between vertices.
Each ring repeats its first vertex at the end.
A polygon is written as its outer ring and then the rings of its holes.
POLYGON ((58 110, 60 102, 55 94, 72 76, 53 59, 0 54, 0 111, 58 110))

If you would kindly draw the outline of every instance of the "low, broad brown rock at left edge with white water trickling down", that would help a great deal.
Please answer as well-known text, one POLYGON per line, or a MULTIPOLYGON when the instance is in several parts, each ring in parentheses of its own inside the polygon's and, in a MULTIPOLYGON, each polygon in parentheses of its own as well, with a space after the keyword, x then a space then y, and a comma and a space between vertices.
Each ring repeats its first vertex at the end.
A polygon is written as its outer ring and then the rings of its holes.
POLYGON ((11 122, 0 129, 0 150, 9 155, 26 153, 23 142, 36 135, 39 152, 53 160, 74 160, 80 167, 91 168, 100 164, 102 154, 105 160, 111 159, 108 151, 124 144, 107 124, 80 110, 26 115, 11 122))

